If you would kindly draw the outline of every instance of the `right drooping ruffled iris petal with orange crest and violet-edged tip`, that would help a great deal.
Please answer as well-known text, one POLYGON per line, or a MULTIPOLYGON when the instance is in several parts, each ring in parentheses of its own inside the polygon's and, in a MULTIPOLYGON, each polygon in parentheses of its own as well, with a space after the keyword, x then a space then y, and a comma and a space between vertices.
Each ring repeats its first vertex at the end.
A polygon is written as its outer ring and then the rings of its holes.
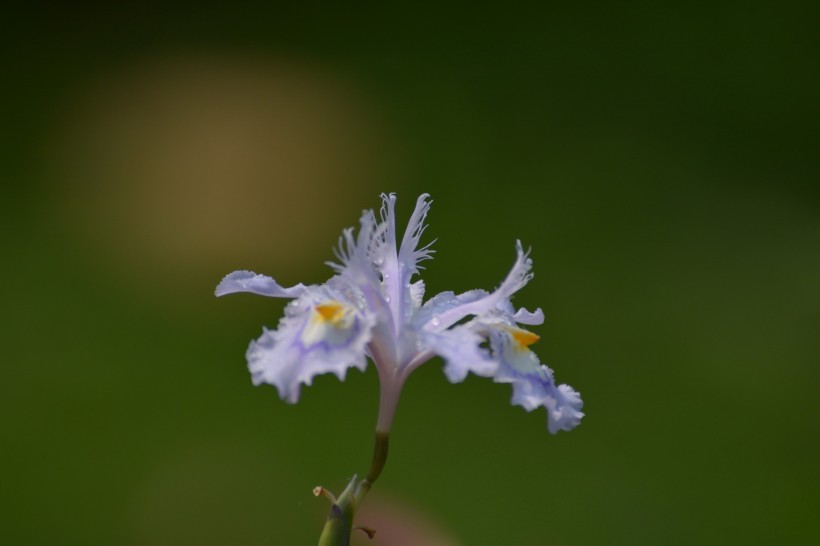
POLYGON ((489 330, 493 357, 498 361, 495 381, 512 383, 512 403, 532 411, 547 410, 547 424, 553 434, 572 430, 584 414, 581 396, 568 385, 555 385, 552 370, 541 364, 528 345, 538 336, 514 326, 496 324, 489 330))

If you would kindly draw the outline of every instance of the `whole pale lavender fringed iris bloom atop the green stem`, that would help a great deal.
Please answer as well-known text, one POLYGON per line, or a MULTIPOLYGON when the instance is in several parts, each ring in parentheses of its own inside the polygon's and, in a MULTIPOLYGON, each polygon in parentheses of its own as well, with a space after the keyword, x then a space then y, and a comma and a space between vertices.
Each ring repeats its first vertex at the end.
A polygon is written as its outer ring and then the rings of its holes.
POLYGON ((322 285, 280 286, 271 277, 235 271, 217 296, 250 292, 292 301, 276 330, 264 329, 247 351, 255 385, 274 385, 289 403, 320 374, 343 380, 349 368, 364 370, 368 357, 379 374, 377 433, 389 432, 402 386, 413 371, 440 356, 453 383, 469 373, 511 383, 512 403, 532 411, 543 406, 551 433, 571 430, 583 413, 580 395, 556 385, 553 371, 530 350, 538 336, 523 326, 541 324, 541 309, 516 309, 510 298, 532 279, 532 260, 520 241, 507 277, 495 290, 442 292, 424 301, 421 262, 433 255, 422 245, 428 195, 416 201, 401 240, 394 194, 382 194, 377 218, 365 211, 358 234, 344 230, 329 263, 335 275, 322 285))

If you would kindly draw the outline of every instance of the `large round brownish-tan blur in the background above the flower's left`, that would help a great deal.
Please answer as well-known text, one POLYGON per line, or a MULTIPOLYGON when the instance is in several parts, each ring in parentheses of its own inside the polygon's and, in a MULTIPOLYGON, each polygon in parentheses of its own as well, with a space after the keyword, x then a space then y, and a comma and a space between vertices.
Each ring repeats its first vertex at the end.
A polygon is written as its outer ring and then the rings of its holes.
POLYGON ((341 229, 394 189, 382 185, 389 142, 343 73, 200 54, 86 82, 45 155, 52 202, 81 251, 184 292, 183 279, 215 284, 232 269, 289 282, 305 263, 319 268, 341 229))

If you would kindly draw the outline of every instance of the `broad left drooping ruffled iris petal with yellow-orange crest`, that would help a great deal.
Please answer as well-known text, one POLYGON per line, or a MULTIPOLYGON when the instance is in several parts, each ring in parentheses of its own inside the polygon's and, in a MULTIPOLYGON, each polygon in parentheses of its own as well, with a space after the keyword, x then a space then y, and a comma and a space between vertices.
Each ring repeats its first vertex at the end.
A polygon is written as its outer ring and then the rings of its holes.
POLYGON ((275 331, 251 342, 246 356, 253 383, 274 385, 283 400, 295 403, 316 375, 344 379, 348 368, 364 370, 374 322, 339 294, 308 290, 288 304, 275 331))

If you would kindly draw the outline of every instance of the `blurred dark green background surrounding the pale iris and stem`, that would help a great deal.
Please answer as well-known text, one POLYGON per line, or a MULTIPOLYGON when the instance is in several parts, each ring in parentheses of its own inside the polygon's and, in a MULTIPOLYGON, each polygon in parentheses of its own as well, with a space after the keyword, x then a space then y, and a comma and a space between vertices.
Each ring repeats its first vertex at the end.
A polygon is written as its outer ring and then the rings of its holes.
POLYGON ((431 362, 371 544, 820 543, 811 3, 4 12, 0 543, 315 543, 375 373, 284 404, 243 356, 282 302, 213 289, 323 282, 383 191, 433 195, 428 293, 532 246, 516 303, 587 417, 431 362))

